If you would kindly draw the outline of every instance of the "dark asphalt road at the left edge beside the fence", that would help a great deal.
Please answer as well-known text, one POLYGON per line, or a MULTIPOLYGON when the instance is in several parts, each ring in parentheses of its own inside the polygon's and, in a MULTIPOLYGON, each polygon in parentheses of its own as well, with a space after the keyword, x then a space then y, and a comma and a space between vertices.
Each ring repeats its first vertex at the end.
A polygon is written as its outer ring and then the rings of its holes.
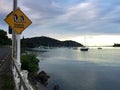
POLYGON ((0 90, 4 90, 4 75, 11 73, 11 48, 5 46, 0 48, 0 90))

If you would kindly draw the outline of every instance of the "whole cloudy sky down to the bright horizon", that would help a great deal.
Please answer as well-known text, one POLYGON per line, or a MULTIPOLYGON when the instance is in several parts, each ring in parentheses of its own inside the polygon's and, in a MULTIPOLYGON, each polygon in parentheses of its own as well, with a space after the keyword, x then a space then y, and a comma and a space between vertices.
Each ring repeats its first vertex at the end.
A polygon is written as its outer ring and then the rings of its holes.
MULTIPOLYGON (((120 0, 18 0, 18 7, 32 20, 21 37, 48 36, 92 46, 120 43, 120 0)), ((13 0, 0 0, 0 28, 5 31, 4 18, 12 9, 13 0)))

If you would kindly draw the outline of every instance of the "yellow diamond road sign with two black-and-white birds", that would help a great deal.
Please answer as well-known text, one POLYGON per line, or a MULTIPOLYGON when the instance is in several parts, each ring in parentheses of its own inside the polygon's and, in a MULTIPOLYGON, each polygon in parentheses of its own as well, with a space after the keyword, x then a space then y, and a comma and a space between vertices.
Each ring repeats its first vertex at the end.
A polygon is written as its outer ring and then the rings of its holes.
POLYGON ((21 34, 22 31, 32 23, 19 8, 11 12, 5 18, 5 22, 7 22, 7 24, 18 34, 21 34))

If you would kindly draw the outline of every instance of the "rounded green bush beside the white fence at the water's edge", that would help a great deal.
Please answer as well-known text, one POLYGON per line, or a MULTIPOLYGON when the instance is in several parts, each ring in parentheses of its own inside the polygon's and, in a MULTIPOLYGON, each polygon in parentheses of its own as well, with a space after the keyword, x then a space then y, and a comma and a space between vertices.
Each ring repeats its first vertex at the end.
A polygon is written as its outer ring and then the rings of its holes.
POLYGON ((29 74, 34 75, 39 70, 39 60, 35 54, 22 55, 21 63, 21 69, 28 70, 29 74))

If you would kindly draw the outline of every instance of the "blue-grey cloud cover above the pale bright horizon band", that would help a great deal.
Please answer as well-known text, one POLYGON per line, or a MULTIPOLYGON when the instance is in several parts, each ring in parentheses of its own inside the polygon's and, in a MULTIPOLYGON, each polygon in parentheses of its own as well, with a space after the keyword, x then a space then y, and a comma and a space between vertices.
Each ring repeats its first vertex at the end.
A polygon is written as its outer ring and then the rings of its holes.
MULTIPOLYGON (((77 3, 74 4, 71 2, 75 1, 71 0, 70 5, 67 1, 22 0, 19 2, 22 10, 32 19, 32 26, 35 29, 39 27, 43 31, 51 30, 52 33, 76 35, 120 32, 120 0, 82 0, 82 2, 75 0, 77 3), (82 3, 83 5, 80 6, 82 3)), ((5 14, 1 15, 0 20, 4 16, 5 14)))

